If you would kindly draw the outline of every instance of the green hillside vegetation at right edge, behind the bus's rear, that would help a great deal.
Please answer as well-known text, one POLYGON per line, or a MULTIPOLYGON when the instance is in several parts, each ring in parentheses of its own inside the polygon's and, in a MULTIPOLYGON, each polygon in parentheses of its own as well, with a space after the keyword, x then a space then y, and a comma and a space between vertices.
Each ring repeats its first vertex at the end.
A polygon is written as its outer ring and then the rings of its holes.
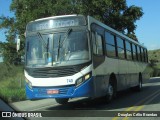
POLYGON ((160 49, 148 51, 148 57, 153 68, 153 77, 160 76, 160 49))

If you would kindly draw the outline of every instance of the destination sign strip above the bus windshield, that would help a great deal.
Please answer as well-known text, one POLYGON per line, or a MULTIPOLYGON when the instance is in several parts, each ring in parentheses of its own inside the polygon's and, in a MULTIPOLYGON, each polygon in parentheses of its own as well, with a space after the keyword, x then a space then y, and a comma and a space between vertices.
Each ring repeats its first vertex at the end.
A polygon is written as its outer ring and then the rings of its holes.
POLYGON ((46 29, 54 29, 69 26, 86 25, 86 20, 83 16, 70 16, 64 18, 51 18, 47 20, 34 21, 27 25, 27 31, 38 31, 46 29))

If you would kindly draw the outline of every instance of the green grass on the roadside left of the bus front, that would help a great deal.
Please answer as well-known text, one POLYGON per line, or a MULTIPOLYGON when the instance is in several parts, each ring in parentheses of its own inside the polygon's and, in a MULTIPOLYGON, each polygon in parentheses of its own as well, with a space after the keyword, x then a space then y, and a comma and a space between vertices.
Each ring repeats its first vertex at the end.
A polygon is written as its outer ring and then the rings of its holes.
POLYGON ((6 102, 26 99, 23 66, 0 63, 0 97, 6 102))

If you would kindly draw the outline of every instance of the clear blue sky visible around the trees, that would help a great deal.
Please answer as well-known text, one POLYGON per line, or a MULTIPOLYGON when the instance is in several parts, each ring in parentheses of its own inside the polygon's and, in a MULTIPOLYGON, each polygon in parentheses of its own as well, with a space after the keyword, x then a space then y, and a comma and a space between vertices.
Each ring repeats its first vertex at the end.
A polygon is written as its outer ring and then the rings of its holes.
MULTIPOLYGON (((9 6, 12 0, 0 0, 0 16, 13 17, 9 6)), ((144 15, 136 22, 136 36, 149 50, 160 49, 160 0, 126 0, 127 5, 142 7, 144 15)), ((0 41, 5 42, 4 29, 0 30, 0 41)))

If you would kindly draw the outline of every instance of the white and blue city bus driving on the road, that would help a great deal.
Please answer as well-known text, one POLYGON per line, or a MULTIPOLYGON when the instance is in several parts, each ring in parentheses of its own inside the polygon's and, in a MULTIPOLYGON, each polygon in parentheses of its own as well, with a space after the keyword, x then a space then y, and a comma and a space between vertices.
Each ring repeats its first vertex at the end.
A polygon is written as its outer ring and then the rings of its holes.
POLYGON ((103 98, 140 91, 149 79, 147 48, 91 16, 64 15, 26 26, 28 99, 103 98))

